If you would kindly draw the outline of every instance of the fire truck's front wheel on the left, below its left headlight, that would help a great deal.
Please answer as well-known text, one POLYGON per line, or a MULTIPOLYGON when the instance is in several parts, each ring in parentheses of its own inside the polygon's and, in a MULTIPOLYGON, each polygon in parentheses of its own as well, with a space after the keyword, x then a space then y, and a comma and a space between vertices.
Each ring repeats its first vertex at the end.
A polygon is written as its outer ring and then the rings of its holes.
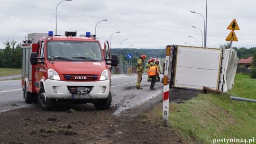
POLYGON ((50 110, 54 105, 54 99, 48 99, 46 97, 45 88, 42 87, 38 94, 38 103, 43 110, 50 110))

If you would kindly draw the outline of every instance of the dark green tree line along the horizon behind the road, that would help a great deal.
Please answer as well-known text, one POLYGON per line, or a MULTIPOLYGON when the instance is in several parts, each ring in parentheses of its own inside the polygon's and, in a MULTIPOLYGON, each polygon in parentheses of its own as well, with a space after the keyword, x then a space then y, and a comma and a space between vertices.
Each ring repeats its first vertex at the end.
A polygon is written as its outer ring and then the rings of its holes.
MULTIPOLYGON (((2 42, 5 46, 4 49, 0 49, 0 68, 21 68, 22 66, 22 50, 21 44, 17 44, 17 42, 12 39, 5 42, 2 42)), ((220 45, 219 48, 230 48, 230 42, 227 44, 220 45)), ((232 47, 237 51, 238 58, 248 58, 249 56, 253 56, 256 54, 256 47, 246 48, 246 47, 232 47)), ((136 63, 137 58, 145 54, 148 58, 149 57, 165 57, 165 48, 163 49, 135 49, 135 48, 112 48, 112 54, 118 54, 122 61, 127 61, 126 55, 128 53, 132 54, 131 63, 136 63)))

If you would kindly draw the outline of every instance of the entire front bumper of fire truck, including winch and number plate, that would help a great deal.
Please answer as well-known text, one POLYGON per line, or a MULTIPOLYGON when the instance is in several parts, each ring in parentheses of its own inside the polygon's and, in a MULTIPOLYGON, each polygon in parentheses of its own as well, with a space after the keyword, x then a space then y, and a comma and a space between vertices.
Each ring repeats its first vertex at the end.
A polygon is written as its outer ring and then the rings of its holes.
POLYGON ((49 99, 106 99, 110 92, 110 81, 57 81, 47 79, 44 83, 49 99))

